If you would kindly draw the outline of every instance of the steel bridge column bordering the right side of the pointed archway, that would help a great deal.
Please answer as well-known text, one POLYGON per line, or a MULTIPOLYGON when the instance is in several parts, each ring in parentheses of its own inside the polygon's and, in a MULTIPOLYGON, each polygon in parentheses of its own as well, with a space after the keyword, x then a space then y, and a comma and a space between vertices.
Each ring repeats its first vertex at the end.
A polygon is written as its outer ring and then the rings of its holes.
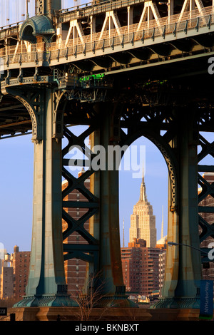
POLYGON ((156 308, 191 309, 200 307, 201 259, 198 233, 198 129, 190 110, 181 113, 174 142, 178 150, 178 222, 169 221, 163 299, 156 308), (185 123, 183 122, 185 120, 185 123), (170 239, 172 238, 172 239, 170 239), (182 244, 187 244, 186 247, 182 244), (171 249, 170 249, 171 248, 171 249))

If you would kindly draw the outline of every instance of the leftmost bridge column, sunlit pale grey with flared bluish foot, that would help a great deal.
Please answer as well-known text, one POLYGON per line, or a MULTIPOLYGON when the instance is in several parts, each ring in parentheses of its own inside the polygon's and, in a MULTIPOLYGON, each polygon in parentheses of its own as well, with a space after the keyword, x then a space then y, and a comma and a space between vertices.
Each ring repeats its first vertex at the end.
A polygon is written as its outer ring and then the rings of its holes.
POLYGON ((72 306, 63 265, 61 139, 53 129, 53 93, 41 91, 41 140, 34 143, 34 213, 26 296, 16 307, 72 306))

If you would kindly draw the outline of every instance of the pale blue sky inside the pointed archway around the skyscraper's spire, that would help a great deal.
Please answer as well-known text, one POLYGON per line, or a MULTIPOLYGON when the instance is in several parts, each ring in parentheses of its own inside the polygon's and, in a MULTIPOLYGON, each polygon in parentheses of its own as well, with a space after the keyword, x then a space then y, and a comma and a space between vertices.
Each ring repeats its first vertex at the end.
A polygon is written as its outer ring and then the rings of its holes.
POLYGON ((129 228, 131 227, 131 214, 141 196, 141 183, 146 185, 148 202, 156 215, 157 240, 161 239, 161 222, 163 222, 163 237, 167 235, 168 226, 168 168, 160 150, 151 140, 142 136, 124 153, 119 170, 119 209, 121 247, 128 247, 129 228), (130 155, 134 158, 130 162, 130 155), (130 162, 130 163, 129 163, 130 162))

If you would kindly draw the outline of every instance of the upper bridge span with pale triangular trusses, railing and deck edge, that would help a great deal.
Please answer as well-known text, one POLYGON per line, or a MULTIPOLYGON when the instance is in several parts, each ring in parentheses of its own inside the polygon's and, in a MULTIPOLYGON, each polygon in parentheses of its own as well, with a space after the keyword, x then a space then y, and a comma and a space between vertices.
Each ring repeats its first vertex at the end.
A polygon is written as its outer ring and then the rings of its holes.
MULTIPOLYGON (((117 2, 121 1, 113 2, 114 6, 117 2)), ((88 65, 88 71, 112 71, 142 62, 158 63, 160 58, 170 61, 204 53, 204 48, 213 47, 213 6, 204 7, 202 1, 185 0, 178 14, 173 14, 172 4, 161 6, 153 1, 134 1, 133 7, 127 3, 101 17, 94 13, 96 8, 92 6, 91 14, 84 12, 80 18, 79 11, 73 11, 76 18, 70 17, 70 21, 61 12, 55 32, 50 26, 33 32, 41 36, 36 43, 31 35, 26 36, 28 26, 36 26, 34 18, 26 21, 17 42, 8 38, 0 50, 4 70, 72 63, 83 70, 88 65)))

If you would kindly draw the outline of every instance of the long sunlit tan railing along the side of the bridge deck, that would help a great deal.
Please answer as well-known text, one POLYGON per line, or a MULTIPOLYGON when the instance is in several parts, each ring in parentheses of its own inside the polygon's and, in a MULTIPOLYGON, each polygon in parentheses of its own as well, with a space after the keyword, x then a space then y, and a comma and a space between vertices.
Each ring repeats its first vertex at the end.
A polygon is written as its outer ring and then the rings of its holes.
MULTIPOLYGON (((185 12, 181 17, 180 14, 173 16, 165 16, 158 21, 144 21, 141 24, 133 24, 123 26, 119 30, 111 29, 111 31, 101 32, 82 36, 81 38, 71 38, 61 43, 37 43, 31 44, 29 51, 26 45, 22 43, 19 46, 8 46, 0 49, 0 57, 4 60, 4 64, 9 66, 13 63, 39 63, 41 61, 60 61, 61 58, 68 58, 88 52, 96 53, 98 50, 105 51, 106 48, 122 48, 128 43, 134 44, 137 41, 145 43, 146 40, 162 36, 163 39, 167 35, 176 36, 180 31, 187 33, 199 31, 202 27, 212 26, 214 23, 213 7, 206 7, 199 13, 198 9, 185 12)), ((2 62, 1 62, 2 63, 2 62)))

